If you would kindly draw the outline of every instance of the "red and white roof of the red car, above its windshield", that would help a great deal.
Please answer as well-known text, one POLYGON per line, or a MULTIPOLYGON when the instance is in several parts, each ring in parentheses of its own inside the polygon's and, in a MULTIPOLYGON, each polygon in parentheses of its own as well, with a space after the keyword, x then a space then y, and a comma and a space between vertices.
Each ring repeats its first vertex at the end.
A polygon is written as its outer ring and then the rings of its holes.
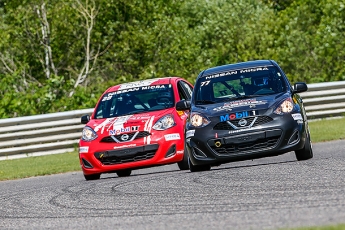
POLYGON ((171 84, 177 81, 178 79, 181 79, 181 78, 180 77, 162 77, 162 78, 151 78, 151 79, 145 79, 145 80, 140 80, 140 81, 126 82, 126 83, 109 87, 105 93, 114 92, 119 89, 129 89, 133 87, 171 84))

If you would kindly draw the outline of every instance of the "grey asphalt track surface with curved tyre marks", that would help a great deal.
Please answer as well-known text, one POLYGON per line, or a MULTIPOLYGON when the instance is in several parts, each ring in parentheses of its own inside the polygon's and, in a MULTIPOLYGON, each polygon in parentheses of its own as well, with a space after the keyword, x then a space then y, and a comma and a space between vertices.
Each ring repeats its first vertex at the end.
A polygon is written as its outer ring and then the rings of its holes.
MULTIPOLYGON (((228 163, 211 171, 176 164, 0 182, 0 229, 278 229, 345 223, 345 141, 228 163)), ((20 170, 20 169, 18 169, 20 170)))

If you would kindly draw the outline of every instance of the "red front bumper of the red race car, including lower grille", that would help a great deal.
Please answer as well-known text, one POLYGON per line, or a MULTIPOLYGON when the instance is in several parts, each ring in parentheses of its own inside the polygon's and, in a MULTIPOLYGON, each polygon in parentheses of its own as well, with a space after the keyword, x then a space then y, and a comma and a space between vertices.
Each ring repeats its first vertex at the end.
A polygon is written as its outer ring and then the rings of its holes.
POLYGON ((79 142, 79 159, 85 175, 112 173, 172 164, 183 159, 184 141, 166 140, 164 133, 152 135, 150 143, 142 140, 125 143, 79 142))

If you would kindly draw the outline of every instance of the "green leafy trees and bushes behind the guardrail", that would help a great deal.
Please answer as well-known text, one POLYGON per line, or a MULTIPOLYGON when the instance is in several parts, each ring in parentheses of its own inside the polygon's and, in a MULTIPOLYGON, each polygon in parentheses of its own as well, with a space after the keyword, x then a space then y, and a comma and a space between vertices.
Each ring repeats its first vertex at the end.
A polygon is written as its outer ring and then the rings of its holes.
POLYGON ((0 118, 91 108, 118 83, 194 83, 253 59, 276 60, 292 82, 345 80, 341 0, 13 0, 0 17, 0 118))

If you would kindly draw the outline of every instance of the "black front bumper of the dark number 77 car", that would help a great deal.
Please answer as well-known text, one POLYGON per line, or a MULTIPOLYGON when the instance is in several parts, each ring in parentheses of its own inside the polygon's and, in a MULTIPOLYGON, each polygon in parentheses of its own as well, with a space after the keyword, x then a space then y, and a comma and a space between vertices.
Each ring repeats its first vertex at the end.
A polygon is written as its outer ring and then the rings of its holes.
MULTIPOLYGON (((209 124, 194 128, 194 135, 187 138, 186 146, 194 165, 219 165, 301 149, 306 138, 305 129, 305 123, 297 122, 290 114, 275 116, 256 127, 240 130, 228 130, 224 126, 214 129, 209 124)), ((187 133, 188 130, 193 129, 187 129, 187 133)))

